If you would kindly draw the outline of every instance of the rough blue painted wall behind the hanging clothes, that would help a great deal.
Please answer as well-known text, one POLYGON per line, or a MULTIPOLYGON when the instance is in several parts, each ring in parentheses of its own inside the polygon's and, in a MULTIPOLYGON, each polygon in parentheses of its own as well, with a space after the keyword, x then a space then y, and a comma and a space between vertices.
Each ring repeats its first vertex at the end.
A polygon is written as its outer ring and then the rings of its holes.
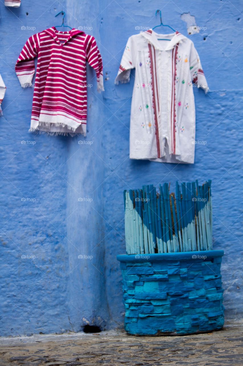
POLYGON ((0 72, 7 85, 0 119, 1 335, 79 331, 87 322, 122 327, 116 255, 125 253, 123 190, 197 178, 212 179, 214 249, 225 251, 226 320, 242 315, 241 11, 240 0, 23 0, 15 10, 0 3, 0 72), (60 24, 54 16, 62 8, 70 26, 92 27, 86 33, 96 37, 104 61, 101 95, 88 67, 86 138, 30 134, 33 89, 21 89, 14 71, 27 38, 60 24), (129 159, 133 78, 119 86, 114 79, 127 38, 136 27, 157 25, 157 8, 181 33, 180 17, 188 12, 207 28, 189 36, 210 88, 206 96, 194 90, 194 165, 129 159))

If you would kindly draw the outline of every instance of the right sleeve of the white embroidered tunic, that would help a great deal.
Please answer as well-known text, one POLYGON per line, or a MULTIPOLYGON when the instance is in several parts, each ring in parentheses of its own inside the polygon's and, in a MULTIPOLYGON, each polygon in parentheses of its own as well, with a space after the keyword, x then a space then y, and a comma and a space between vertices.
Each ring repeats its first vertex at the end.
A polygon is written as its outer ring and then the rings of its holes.
POLYGON ((194 45, 192 45, 190 53, 190 72, 192 75, 193 84, 196 84, 198 88, 201 87, 205 91, 205 93, 207 93, 209 90, 208 83, 202 70, 201 61, 194 45))

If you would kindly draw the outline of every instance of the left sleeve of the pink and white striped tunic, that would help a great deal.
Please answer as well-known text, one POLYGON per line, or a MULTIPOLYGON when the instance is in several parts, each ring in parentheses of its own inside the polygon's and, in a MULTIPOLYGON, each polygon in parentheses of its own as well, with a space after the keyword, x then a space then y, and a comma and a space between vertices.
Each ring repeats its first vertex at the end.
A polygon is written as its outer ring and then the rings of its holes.
POLYGON ((31 86, 35 74, 34 58, 37 56, 38 50, 39 36, 34 34, 27 40, 15 65, 15 71, 22 87, 31 86))

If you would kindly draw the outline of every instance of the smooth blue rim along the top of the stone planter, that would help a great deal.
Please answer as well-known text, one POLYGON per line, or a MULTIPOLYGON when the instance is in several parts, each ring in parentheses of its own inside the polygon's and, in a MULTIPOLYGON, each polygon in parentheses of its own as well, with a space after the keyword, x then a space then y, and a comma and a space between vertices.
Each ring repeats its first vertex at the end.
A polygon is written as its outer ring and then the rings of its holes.
POLYGON ((147 261, 188 261, 189 259, 208 260, 215 257, 223 257, 223 250, 195 250, 176 253, 144 253, 144 254, 118 254, 116 259, 120 262, 147 262, 147 261), (206 256, 206 258, 204 258, 206 256))

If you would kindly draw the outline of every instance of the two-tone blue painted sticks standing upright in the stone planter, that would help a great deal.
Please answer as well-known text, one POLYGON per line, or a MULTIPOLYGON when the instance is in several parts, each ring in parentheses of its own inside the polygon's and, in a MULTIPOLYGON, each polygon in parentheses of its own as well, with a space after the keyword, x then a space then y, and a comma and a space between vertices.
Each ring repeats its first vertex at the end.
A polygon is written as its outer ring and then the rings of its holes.
POLYGON ((212 249, 211 180, 124 191, 127 254, 212 249))

